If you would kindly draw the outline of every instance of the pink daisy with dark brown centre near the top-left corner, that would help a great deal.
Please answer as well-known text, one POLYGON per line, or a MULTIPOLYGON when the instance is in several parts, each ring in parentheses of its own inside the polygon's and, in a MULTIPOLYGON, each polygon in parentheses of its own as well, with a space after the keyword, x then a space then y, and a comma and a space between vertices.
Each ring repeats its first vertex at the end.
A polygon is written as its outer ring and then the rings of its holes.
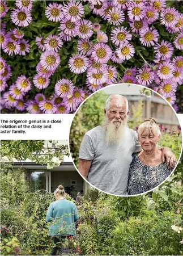
POLYGON ((31 13, 20 9, 14 9, 11 12, 12 22, 20 27, 27 27, 32 22, 31 13))

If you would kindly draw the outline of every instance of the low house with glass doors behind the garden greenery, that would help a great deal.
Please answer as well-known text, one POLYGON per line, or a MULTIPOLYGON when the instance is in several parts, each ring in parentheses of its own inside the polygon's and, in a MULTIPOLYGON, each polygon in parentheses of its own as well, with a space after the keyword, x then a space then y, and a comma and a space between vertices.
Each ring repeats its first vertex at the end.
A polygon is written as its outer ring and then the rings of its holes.
MULTIPOLYGON (((48 141, 45 141, 45 144, 47 143, 48 141)), ((59 144, 67 145, 67 141, 59 141, 59 144)), ((66 192, 75 198, 79 191, 87 194, 91 187, 75 169, 71 157, 64 156, 64 161, 53 169, 47 169, 46 165, 30 160, 24 162, 15 160, 14 169, 20 167, 24 169, 25 181, 31 192, 36 190, 54 192, 58 185, 62 184, 66 192)))

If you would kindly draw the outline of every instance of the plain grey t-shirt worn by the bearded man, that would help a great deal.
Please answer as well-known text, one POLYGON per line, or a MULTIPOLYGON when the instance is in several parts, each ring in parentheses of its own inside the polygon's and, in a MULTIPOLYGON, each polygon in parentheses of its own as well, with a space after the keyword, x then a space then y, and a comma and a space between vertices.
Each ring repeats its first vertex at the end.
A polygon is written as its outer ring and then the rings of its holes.
POLYGON ((131 154, 140 152, 137 132, 126 129, 120 144, 107 143, 105 130, 97 126, 82 140, 79 158, 92 160, 87 181, 96 188, 114 195, 128 195, 131 154))

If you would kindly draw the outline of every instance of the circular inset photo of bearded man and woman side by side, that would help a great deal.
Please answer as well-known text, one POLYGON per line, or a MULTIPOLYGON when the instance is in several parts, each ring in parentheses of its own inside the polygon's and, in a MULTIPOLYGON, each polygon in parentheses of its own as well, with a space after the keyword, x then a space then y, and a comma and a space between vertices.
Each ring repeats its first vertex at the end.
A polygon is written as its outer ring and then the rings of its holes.
POLYGON ((175 110, 154 91, 128 84, 92 94, 76 111, 69 142, 80 175, 117 196, 154 190, 172 174, 182 150, 175 110))

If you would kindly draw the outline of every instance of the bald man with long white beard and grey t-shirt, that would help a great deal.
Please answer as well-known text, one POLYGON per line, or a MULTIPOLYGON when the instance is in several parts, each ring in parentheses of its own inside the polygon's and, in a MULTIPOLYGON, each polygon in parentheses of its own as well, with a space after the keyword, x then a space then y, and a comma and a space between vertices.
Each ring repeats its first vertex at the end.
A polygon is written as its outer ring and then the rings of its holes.
MULTIPOLYGON (((110 95, 104 109, 105 123, 88 131, 79 150, 80 174, 96 188, 114 195, 128 195, 127 186, 132 154, 140 152, 137 132, 128 128, 127 99, 110 95)), ((167 165, 176 164, 169 148, 163 149, 167 165)))

